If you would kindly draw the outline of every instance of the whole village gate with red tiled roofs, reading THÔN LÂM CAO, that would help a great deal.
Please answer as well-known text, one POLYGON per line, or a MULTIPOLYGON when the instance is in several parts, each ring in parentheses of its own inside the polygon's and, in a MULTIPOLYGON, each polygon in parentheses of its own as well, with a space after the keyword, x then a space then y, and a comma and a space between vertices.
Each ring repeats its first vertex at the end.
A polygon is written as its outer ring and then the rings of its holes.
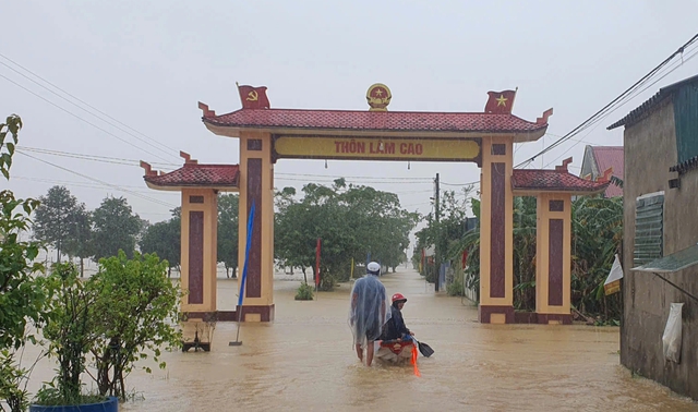
MULTIPOLYGON (((251 205, 256 205, 243 306, 228 317, 240 317, 245 322, 274 319, 274 165, 279 159, 305 158, 476 162, 481 168, 479 320, 571 322, 570 197, 600 193, 609 182, 591 182, 570 174, 567 163, 571 159, 555 170, 514 170, 514 143, 535 142, 542 137, 552 109, 533 122, 524 120, 512 113, 516 92, 504 90, 488 93, 483 112, 388 111, 392 94, 383 84, 369 88, 370 110, 366 111, 273 109, 266 87, 238 88, 242 101, 240 110, 216 114, 207 105, 198 104, 202 120, 209 131, 239 138, 238 172, 231 180, 234 183, 226 186, 240 192, 239 221, 246 221, 251 205), (537 260, 539 316, 534 319, 530 316, 517 318, 513 306, 515 194, 538 197, 538 221, 542 230, 538 235, 541 253, 537 260)), ((147 163, 144 167, 149 170, 147 163)), ((178 183, 179 187, 196 184, 178 183)), ((203 183, 208 187, 214 184, 213 181, 203 183)), ((148 185, 158 189, 153 179, 148 185)), ((184 202, 189 201, 182 195, 183 211, 184 202)), ((215 225, 212 219, 205 220, 203 233, 215 238, 215 225)), ((182 265, 182 284, 189 284, 190 289, 192 284, 207 284, 206 294, 210 293, 212 282, 215 286, 215 265, 213 274, 209 264, 205 274, 203 265, 201 270, 196 265, 192 266, 189 245, 194 235, 200 237, 198 231, 193 233, 182 218, 182 264, 190 263, 182 265)), ((246 226, 240 225, 241 263, 244 262, 245 239, 246 226)), ((206 256, 215 263, 215 247, 213 256, 210 251, 206 256)), ((213 293, 215 298, 215 287, 213 293)), ((215 299, 189 300, 182 304, 182 312, 205 314, 215 311, 215 299)))

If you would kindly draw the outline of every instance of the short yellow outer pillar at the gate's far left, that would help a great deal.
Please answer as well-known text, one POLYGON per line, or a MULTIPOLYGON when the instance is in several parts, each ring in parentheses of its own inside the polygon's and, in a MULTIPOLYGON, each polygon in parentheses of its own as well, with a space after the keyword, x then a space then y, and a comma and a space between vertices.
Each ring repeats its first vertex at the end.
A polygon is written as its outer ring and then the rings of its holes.
POLYGON ((216 311, 218 195, 212 189, 182 190, 182 312, 216 311))

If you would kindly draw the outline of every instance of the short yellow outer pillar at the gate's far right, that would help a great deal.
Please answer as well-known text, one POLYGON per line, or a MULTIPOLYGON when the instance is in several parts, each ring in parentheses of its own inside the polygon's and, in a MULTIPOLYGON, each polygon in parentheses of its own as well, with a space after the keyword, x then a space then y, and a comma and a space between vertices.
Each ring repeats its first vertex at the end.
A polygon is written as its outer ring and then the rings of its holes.
POLYGON ((535 313, 539 324, 570 324, 571 196, 538 195, 535 313))

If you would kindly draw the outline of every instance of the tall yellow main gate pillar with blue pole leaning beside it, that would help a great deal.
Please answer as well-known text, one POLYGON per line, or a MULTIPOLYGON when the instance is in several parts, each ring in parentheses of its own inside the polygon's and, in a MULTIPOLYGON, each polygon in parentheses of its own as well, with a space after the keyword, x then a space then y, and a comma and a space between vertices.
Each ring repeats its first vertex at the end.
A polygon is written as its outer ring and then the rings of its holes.
POLYGON ((248 237, 248 215, 255 217, 242 311, 243 322, 274 320, 274 163, 272 135, 242 132, 240 136, 240 227, 238 262, 242 280, 248 237))

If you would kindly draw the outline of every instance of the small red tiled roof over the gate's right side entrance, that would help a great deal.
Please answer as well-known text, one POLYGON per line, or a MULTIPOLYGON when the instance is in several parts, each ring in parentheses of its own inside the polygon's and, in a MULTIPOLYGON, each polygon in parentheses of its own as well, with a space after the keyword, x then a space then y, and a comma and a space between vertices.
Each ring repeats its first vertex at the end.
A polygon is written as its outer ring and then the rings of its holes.
POLYGON ((514 169, 514 191, 600 193, 609 182, 592 182, 578 178, 567 170, 514 169))

